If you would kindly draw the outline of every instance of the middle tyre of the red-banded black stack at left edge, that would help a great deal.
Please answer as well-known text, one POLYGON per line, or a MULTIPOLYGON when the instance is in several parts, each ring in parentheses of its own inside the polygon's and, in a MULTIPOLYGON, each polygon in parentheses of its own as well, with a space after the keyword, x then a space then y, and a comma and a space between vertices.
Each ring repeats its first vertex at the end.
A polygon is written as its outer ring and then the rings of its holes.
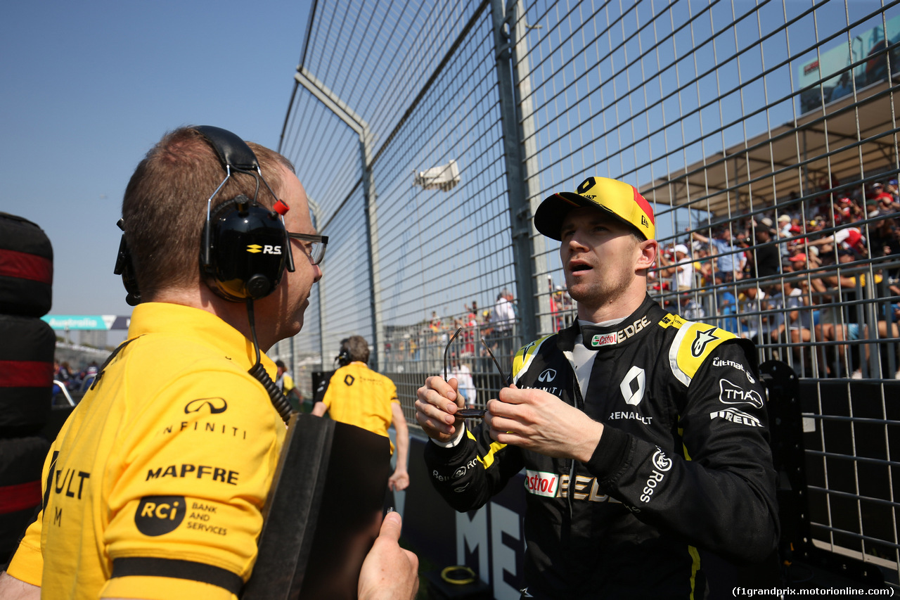
POLYGON ((0 437, 30 435, 47 423, 55 350, 49 324, 0 314, 0 437))

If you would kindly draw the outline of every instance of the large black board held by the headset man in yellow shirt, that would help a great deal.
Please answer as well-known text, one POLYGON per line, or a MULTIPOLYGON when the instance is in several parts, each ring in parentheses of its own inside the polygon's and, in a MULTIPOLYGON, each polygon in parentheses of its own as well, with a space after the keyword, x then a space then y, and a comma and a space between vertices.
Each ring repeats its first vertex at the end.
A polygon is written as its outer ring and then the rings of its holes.
POLYGON ((293 414, 241 600, 356 599, 390 477, 388 438, 293 414))

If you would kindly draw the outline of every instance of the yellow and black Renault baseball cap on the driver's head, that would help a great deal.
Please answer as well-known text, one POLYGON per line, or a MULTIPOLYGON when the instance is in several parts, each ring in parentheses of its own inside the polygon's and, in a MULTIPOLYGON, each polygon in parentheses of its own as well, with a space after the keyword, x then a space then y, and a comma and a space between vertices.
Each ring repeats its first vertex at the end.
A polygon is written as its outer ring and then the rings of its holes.
POLYGON ((535 211, 535 228, 548 238, 560 240, 563 219, 573 208, 590 206, 631 225, 648 240, 656 237, 653 208, 635 186, 608 177, 588 177, 575 192, 556 192, 535 211))

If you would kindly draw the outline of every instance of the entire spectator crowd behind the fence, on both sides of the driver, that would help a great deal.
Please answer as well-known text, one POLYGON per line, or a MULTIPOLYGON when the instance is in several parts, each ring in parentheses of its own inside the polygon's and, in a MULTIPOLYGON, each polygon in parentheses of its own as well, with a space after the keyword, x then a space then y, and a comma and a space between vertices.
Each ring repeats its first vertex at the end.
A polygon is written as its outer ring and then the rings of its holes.
MULTIPOLYGON (((775 210, 689 230, 661 244, 650 293, 687 319, 754 341, 764 358, 788 361, 805 377, 876 377, 867 366, 878 341, 883 375, 900 378, 900 189, 894 178, 868 187, 822 186, 792 194, 775 210), (865 189, 865 193, 863 193, 865 189), (783 207, 783 208, 782 208, 783 207)), ((553 331, 575 306, 548 278, 553 331)), ((507 290, 494 305, 465 304, 450 315, 388 328, 387 368, 438 372, 450 337, 454 368, 491 371, 518 348, 518 314, 507 290), (482 340, 484 343, 482 343, 482 340), (411 363, 417 363, 413 366, 411 363)))

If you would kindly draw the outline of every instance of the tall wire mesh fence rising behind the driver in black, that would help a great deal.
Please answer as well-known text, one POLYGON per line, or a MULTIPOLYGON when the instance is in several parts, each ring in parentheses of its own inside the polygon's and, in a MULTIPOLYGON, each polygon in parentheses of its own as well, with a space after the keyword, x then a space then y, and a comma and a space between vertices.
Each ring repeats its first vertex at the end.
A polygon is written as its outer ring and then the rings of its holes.
POLYGON ((359 333, 414 423, 461 328, 481 405, 487 349, 509 369, 575 317, 536 205, 626 180, 654 297, 803 377, 815 538, 896 572, 896 4, 314 2, 281 150, 329 250, 274 353, 304 388, 359 333))

